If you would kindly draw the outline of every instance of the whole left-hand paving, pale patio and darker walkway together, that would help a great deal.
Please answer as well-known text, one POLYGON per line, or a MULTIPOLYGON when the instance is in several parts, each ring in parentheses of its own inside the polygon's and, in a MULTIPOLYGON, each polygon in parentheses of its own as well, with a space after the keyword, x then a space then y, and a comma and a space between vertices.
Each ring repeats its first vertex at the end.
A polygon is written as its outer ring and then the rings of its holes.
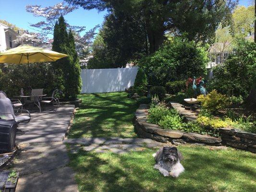
POLYGON ((20 173, 16 192, 78 191, 62 143, 73 110, 61 106, 56 112, 32 113, 29 123, 19 125, 23 132, 17 132, 16 139, 22 149, 13 166, 20 173))

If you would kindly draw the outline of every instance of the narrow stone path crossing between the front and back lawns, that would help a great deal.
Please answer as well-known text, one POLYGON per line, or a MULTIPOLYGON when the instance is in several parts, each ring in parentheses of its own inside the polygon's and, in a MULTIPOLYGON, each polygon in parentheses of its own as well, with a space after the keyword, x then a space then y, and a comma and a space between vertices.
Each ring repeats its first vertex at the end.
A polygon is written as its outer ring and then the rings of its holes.
POLYGON ((123 154, 130 151, 142 151, 145 148, 163 146, 166 144, 153 141, 151 139, 141 138, 79 138, 67 139, 63 143, 71 144, 71 153, 77 153, 78 150, 95 151, 104 153, 111 151, 116 154, 123 154))

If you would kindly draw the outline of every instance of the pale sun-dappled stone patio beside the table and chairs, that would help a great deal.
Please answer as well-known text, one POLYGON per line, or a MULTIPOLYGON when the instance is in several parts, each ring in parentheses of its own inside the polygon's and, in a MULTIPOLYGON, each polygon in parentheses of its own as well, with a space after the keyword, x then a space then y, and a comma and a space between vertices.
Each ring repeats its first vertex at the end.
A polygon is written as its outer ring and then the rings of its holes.
POLYGON ((61 106, 56 112, 47 110, 42 113, 31 113, 29 123, 20 123, 16 143, 60 142, 65 136, 74 106, 61 106))

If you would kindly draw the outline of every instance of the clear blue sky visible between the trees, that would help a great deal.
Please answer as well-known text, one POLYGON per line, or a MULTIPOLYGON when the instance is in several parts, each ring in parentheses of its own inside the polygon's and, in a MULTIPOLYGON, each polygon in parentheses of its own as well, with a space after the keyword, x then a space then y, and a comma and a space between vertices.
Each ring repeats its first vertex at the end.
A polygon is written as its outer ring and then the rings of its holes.
MULTIPOLYGON (((31 13, 25 11, 27 4, 42 5, 42 7, 52 6, 61 0, 0 0, 0 19, 15 24, 18 27, 33 31, 29 23, 37 23, 42 18, 34 17, 31 13)), ((248 6, 252 0, 239 0, 239 4, 248 6)), ((97 24, 102 24, 104 15, 107 12, 98 12, 97 10, 84 10, 79 8, 67 15, 66 21, 71 25, 86 26, 89 30, 97 24)))

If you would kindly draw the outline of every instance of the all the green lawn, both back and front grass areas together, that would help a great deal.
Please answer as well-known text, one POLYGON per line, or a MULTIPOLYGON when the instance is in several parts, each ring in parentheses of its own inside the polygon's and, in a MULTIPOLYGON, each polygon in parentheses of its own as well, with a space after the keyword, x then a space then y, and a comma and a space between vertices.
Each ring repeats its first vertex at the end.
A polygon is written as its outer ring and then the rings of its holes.
MULTIPOLYGON (((126 93, 79 96, 69 138, 135 137, 132 118, 136 109, 126 93)), ((145 149, 123 155, 78 151, 69 154, 80 192, 253 192, 256 189, 256 154, 228 148, 178 146, 185 172, 165 178, 154 169, 145 149)))

